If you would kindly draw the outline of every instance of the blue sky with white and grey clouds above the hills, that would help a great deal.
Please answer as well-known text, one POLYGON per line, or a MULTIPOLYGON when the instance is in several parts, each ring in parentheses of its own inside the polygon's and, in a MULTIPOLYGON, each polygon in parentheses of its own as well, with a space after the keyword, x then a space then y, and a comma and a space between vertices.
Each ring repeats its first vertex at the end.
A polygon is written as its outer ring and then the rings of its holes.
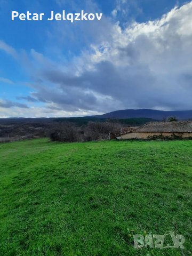
POLYGON ((0 118, 192 109, 191 43, 192 1, 0 0, 0 118), (46 19, 62 10, 103 15, 46 19))

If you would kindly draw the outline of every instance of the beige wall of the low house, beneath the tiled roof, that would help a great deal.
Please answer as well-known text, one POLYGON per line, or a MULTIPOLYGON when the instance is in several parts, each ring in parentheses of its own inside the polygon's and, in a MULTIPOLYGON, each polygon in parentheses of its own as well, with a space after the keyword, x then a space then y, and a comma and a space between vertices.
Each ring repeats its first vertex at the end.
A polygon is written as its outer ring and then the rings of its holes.
MULTIPOLYGON (((172 137, 173 132, 131 132, 119 136, 119 139, 150 139, 153 136, 172 137)), ((181 138, 192 138, 192 132, 175 132, 181 138)))

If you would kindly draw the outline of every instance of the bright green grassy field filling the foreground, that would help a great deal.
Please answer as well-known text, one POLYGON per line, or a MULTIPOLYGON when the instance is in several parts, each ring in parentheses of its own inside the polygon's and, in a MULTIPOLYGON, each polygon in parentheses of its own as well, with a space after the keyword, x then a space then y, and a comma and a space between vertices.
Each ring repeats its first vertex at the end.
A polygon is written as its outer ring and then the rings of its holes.
POLYGON ((0 144, 0 255, 191 255, 192 141, 0 144), (185 249, 134 249, 172 230, 185 249))

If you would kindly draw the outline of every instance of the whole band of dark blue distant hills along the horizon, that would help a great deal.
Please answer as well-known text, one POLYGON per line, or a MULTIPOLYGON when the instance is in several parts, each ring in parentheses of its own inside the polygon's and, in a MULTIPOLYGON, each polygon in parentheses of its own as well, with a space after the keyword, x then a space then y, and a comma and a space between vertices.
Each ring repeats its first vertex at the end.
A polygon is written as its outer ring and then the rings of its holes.
POLYGON ((113 119, 112 122, 118 122, 129 125, 142 125, 150 121, 159 121, 164 118, 175 116, 178 119, 192 119, 192 110, 183 111, 161 111, 153 109, 124 109, 97 116, 83 117, 50 117, 50 118, 0 118, 0 125, 9 124, 39 124, 39 123, 55 123, 55 122, 73 122, 78 126, 86 125, 91 122, 106 122, 113 119))

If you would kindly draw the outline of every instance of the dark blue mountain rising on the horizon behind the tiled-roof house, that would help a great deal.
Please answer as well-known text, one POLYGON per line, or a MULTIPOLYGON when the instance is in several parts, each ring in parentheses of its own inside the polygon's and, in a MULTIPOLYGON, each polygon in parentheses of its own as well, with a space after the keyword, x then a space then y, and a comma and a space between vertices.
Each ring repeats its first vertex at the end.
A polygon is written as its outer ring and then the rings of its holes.
POLYGON ((127 119, 127 118, 151 118, 156 120, 162 120, 163 118, 176 116, 178 119, 191 119, 192 110, 184 111, 161 111, 153 109, 125 109, 117 110, 107 114, 97 116, 99 118, 116 118, 116 119, 127 119))

